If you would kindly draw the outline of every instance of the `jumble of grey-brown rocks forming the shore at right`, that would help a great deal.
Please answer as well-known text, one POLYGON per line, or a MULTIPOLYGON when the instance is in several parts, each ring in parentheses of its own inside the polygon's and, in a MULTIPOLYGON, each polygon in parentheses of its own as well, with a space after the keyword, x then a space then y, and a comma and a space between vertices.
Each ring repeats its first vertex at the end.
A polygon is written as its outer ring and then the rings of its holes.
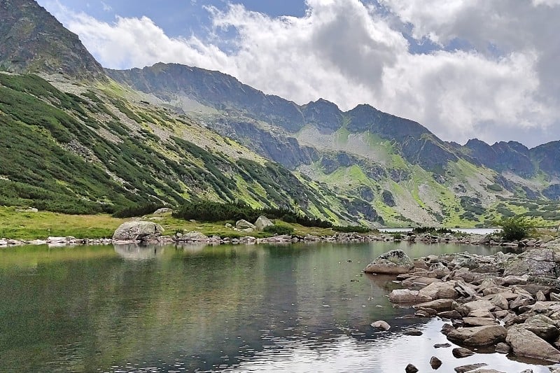
MULTIPOLYGON (((395 274, 402 288, 393 290, 389 300, 398 307, 412 307, 412 317, 445 321, 442 333, 461 346, 452 351, 456 358, 484 348, 532 359, 560 373, 560 239, 520 254, 465 252, 411 260, 395 250, 380 255, 364 272, 395 274)), ((481 368, 480 372, 500 373, 482 363, 455 371, 481 368)), ((403 369, 418 372, 412 364, 403 369)))

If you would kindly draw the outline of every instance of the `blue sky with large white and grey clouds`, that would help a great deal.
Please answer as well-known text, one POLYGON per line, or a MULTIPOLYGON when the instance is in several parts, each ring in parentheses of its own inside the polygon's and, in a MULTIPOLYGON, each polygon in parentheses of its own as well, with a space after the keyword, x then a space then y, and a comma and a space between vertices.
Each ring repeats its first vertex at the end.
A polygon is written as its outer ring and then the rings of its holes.
POLYGON ((560 140, 560 0, 38 0, 105 67, 218 70, 465 143, 560 140))

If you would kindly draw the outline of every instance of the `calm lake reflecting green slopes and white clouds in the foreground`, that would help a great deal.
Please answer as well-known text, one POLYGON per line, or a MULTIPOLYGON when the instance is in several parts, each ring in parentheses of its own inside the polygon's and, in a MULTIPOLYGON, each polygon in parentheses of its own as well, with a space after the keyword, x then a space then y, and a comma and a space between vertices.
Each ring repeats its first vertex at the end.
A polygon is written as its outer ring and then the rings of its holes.
POLYGON ((495 248, 405 243, 288 246, 24 246, 0 251, 0 372, 441 372, 457 360, 442 321, 402 318, 393 277, 361 269, 380 253, 411 257, 495 248), (388 332, 370 323, 385 320, 388 332), (421 336, 405 336, 406 330, 421 336))

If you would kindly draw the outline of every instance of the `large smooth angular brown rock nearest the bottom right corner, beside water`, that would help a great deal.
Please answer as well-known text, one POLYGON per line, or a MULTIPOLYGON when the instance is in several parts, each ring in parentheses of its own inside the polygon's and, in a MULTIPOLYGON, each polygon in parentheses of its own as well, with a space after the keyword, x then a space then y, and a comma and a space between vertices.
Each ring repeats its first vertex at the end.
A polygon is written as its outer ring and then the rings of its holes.
POLYGON ((526 330, 524 325, 513 325, 507 330, 506 342, 512 346, 515 356, 560 363, 560 351, 544 339, 526 330))

